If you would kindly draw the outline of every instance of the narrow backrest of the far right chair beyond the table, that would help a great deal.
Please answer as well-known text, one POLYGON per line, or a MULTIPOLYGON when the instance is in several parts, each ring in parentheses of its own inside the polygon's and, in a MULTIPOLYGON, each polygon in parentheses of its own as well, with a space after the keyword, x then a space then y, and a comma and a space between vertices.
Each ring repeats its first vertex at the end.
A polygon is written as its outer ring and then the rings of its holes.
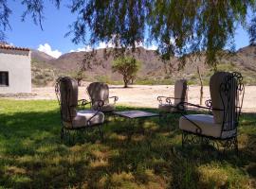
POLYGON ((177 105, 180 102, 187 100, 188 83, 186 79, 176 80, 174 85, 174 104, 177 105))

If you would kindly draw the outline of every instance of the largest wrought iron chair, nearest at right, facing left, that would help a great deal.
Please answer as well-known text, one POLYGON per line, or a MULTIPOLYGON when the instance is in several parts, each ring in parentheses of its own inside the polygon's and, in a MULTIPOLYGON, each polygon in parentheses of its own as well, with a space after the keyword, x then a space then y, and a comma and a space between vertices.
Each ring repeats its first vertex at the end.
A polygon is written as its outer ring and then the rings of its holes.
POLYGON ((196 107, 212 114, 189 114, 179 119, 182 130, 182 146, 211 144, 223 152, 234 149, 238 154, 237 127, 241 113, 245 87, 240 73, 217 72, 210 77, 210 97, 206 107, 181 102, 178 107, 196 107))

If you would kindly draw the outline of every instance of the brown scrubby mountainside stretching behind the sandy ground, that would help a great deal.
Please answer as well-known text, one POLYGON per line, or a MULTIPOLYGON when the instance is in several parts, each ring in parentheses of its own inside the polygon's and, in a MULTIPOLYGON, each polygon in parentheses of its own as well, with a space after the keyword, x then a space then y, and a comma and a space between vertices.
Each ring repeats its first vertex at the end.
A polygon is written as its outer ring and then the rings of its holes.
MULTIPOLYGON (((112 73, 111 62, 113 56, 105 57, 106 49, 96 50, 92 59, 92 67, 85 73, 87 81, 103 81, 113 84, 121 83, 121 76, 112 73)), ((66 53, 59 59, 41 54, 41 52, 32 53, 32 75, 33 84, 37 86, 52 85, 55 78, 60 75, 74 75, 82 65, 84 54, 88 52, 66 53)), ((204 83, 208 84, 212 75, 211 69, 201 60, 188 61, 183 70, 178 71, 177 59, 172 60, 172 67, 164 64, 153 50, 138 48, 132 53, 137 60, 142 62, 141 69, 137 75, 137 84, 173 84, 178 78, 188 78, 191 84, 198 84, 196 72, 199 66, 202 72, 204 83)), ((247 46, 239 49, 233 56, 226 57, 218 65, 218 70, 239 71, 245 77, 247 84, 256 84, 256 46, 247 46)))

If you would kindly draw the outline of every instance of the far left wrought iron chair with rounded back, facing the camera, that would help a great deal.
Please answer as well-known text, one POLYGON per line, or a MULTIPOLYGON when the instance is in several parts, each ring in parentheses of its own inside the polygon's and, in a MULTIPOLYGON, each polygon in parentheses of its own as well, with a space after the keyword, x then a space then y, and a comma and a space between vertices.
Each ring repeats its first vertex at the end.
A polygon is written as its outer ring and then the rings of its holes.
POLYGON ((109 97, 109 88, 106 83, 93 82, 87 87, 87 93, 91 99, 91 108, 98 110, 99 100, 103 101, 104 104, 101 106, 101 112, 111 113, 116 110, 116 102, 119 100, 118 96, 109 97), (109 102, 109 99, 113 99, 113 103, 109 102))

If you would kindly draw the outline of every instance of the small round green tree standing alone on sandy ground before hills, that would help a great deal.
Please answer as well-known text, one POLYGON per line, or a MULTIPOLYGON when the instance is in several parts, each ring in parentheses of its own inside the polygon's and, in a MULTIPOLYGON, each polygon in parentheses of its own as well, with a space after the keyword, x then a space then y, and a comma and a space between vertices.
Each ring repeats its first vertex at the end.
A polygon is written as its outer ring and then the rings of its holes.
POLYGON ((120 57, 113 61, 112 70, 118 72, 123 77, 124 88, 128 87, 128 83, 135 79, 137 71, 140 67, 140 61, 132 57, 120 57))

